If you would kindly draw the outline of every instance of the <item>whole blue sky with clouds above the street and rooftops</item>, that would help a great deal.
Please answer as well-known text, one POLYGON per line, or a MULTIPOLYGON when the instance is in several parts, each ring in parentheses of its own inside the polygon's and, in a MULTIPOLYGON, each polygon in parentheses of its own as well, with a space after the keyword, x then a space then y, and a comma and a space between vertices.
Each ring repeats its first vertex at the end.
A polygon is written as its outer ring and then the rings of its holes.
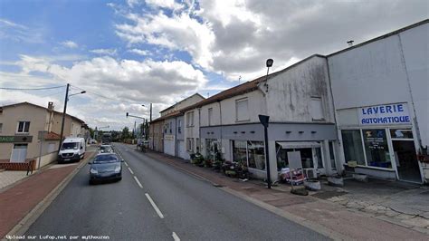
POLYGON ((420 22, 423 0, 0 0, 0 106, 29 101, 103 130, 130 129, 314 54, 420 22), (16 90, 59 87, 49 90, 16 90), (145 105, 145 106, 142 106, 145 105), (141 120, 138 120, 141 121, 141 120))

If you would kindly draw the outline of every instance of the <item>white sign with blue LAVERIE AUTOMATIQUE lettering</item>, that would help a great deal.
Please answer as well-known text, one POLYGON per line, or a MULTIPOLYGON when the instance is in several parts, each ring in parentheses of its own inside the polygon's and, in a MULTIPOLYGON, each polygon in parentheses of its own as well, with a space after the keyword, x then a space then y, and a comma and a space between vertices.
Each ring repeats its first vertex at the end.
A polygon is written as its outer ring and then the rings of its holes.
POLYGON ((361 125, 410 124, 411 118, 406 103, 383 104, 360 108, 359 123, 361 125))

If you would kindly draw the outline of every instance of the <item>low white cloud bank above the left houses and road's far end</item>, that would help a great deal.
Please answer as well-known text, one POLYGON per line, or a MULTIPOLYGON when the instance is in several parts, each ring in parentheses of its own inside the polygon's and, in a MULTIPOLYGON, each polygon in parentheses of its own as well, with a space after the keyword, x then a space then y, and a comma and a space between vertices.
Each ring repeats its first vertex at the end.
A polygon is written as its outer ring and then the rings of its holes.
MULTIPOLYGON (((0 72, 2 84, 14 87, 18 86, 17 83, 25 82, 28 87, 40 87, 69 82, 71 92, 79 92, 76 87, 87 91, 71 98, 69 113, 86 120, 92 127, 106 122, 110 122, 113 129, 129 125, 134 120, 125 119, 126 111, 148 117, 148 107, 142 107, 141 104, 148 105, 149 102, 154 103, 153 113, 156 117, 158 111, 204 88, 207 83, 203 72, 182 61, 118 61, 104 56, 77 61, 71 67, 64 67, 53 63, 54 58, 30 55, 21 55, 20 58, 14 64, 21 68, 21 72, 0 72), (33 72, 47 76, 40 77, 33 72)), ((43 94, 25 95, 9 91, 0 94, 2 101, 19 99, 43 106, 49 101, 43 99, 43 94)), ((61 106, 61 100, 54 102, 57 107, 61 106)))

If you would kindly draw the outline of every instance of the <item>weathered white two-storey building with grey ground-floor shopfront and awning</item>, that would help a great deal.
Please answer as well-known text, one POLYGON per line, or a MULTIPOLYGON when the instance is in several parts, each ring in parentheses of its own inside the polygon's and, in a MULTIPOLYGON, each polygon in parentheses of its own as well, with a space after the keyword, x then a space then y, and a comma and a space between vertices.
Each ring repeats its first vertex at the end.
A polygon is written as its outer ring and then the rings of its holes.
POLYGON ((336 172, 336 130, 327 60, 313 55, 252 82, 220 92, 186 109, 189 152, 205 158, 215 150, 226 160, 242 161, 256 178, 266 177, 263 127, 258 115, 269 115, 272 179, 288 167, 291 152, 313 174, 336 172))

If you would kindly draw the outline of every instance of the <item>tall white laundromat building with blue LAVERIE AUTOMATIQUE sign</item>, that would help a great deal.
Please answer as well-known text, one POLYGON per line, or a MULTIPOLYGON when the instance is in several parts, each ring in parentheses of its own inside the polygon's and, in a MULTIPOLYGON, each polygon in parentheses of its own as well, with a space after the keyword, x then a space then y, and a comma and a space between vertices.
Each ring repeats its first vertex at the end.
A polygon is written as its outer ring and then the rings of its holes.
POLYGON ((328 56, 339 159, 358 164, 348 169, 429 180, 429 165, 417 160, 429 142, 428 33, 426 19, 328 56))

